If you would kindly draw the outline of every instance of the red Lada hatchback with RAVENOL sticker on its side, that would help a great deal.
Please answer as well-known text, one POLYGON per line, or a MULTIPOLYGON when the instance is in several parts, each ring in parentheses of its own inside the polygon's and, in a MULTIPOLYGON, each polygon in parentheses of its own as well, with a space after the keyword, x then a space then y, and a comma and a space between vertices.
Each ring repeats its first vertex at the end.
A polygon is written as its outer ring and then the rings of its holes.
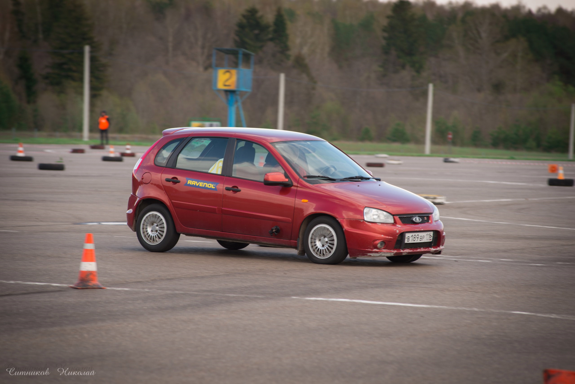
POLYGON ((138 160, 128 226, 152 252, 180 234, 296 248, 314 263, 439 254, 439 211, 327 141, 260 128, 172 128, 138 160))

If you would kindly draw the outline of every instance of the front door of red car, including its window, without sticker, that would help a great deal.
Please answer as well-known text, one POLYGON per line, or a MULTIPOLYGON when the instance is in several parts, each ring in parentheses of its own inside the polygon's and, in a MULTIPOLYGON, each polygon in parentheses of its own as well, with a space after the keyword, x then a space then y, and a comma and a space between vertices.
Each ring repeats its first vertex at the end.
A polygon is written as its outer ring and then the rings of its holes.
POLYGON ((231 176, 224 181, 223 232, 291 239, 296 187, 264 185, 270 172, 285 173, 262 145, 236 140, 231 176), (275 226, 279 232, 270 235, 275 226))

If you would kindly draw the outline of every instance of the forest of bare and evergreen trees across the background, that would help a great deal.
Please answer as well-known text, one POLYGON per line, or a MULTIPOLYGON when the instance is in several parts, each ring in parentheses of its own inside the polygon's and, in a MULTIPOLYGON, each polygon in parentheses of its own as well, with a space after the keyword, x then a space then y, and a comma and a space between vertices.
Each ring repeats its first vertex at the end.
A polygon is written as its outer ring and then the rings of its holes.
POLYGON ((433 83, 434 142, 566 151, 575 102, 575 10, 432 0, 6 0, 0 2, 0 129, 78 132, 83 45, 91 124, 159 133, 226 121, 214 47, 256 53, 248 126, 328 140, 421 143, 433 83))

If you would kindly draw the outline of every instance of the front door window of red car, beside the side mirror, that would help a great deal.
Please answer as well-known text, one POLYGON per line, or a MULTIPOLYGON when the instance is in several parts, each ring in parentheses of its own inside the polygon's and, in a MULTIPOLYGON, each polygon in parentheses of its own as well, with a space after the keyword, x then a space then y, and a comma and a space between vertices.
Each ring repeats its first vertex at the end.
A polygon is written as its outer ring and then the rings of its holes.
POLYGON ((266 148, 251 141, 237 140, 233 177, 263 182, 263 176, 270 172, 283 173, 283 168, 266 148))

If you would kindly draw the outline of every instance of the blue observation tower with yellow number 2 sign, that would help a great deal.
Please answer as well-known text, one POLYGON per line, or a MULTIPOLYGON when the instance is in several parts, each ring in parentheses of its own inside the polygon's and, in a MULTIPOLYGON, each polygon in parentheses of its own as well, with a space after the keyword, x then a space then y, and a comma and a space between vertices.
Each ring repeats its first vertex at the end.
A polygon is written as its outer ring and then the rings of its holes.
POLYGON ((228 106, 227 126, 236 126, 236 106, 240 111, 241 125, 246 126, 241 102, 251 92, 254 53, 242 48, 214 48, 212 68, 212 88, 228 106), (225 99, 218 91, 224 91, 225 99))

